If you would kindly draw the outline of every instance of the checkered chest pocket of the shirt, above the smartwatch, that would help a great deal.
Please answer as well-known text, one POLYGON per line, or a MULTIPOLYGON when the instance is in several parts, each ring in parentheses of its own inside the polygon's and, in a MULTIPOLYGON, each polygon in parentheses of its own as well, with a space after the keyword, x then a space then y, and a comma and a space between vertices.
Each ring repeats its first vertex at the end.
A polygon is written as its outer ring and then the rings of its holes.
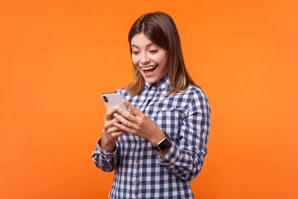
POLYGON ((162 110, 155 115, 154 122, 173 142, 177 142, 181 125, 179 110, 162 110))

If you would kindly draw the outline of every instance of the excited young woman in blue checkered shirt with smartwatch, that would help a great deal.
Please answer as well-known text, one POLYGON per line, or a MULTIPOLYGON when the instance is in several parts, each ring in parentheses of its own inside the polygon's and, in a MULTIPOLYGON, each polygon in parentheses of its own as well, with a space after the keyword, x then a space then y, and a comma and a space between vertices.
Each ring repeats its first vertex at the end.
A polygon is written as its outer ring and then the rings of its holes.
POLYGON ((190 181, 207 153, 208 100, 185 68, 168 14, 144 14, 128 40, 135 73, 117 92, 131 113, 119 106, 106 112, 92 159, 115 170, 110 199, 193 199, 190 181))

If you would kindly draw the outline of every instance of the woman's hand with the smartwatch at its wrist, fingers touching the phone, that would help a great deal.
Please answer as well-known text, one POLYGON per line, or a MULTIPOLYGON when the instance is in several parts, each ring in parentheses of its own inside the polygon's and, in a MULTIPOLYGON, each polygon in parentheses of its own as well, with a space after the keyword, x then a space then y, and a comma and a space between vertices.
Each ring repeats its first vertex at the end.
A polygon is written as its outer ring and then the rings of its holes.
POLYGON ((115 119, 118 119, 120 122, 122 122, 122 124, 119 124, 119 122, 114 122, 113 125, 116 128, 142 137, 148 140, 154 146, 160 140, 165 138, 165 134, 158 128, 158 126, 156 126, 156 124, 147 115, 141 112, 136 106, 131 104, 129 101, 123 100, 123 103, 131 110, 131 113, 123 110, 119 106, 116 106, 115 109, 119 113, 121 113, 121 115, 114 113, 115 119))

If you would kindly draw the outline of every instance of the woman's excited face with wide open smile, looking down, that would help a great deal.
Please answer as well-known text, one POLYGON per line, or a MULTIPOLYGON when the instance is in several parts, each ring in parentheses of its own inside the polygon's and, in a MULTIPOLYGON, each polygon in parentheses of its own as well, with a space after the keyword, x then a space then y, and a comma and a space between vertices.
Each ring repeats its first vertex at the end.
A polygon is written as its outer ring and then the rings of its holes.
POLYGON ((167 50, 151 42, 143 33, 134 35, 131 44, 132 61, 146 82, 155 83, 167 74, 167 50))

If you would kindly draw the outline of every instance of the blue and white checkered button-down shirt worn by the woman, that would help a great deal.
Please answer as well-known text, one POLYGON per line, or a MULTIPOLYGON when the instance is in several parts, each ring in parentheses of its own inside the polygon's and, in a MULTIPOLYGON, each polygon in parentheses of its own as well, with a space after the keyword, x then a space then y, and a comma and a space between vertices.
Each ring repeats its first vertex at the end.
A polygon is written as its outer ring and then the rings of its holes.
POLYGON ((138 96, 117 90, 167 133, 172 145, 160 158, 147 140, 131 133, 118 138, 114 153, 97 143, 92 153, 95 165, 105 172, 115 170, 110 199, 194 198, 190 180, 201 171, 207 154, 210 106, 197 87, 163 97, 170 90, 168 75, 155 84, 146 82, 138 96))

